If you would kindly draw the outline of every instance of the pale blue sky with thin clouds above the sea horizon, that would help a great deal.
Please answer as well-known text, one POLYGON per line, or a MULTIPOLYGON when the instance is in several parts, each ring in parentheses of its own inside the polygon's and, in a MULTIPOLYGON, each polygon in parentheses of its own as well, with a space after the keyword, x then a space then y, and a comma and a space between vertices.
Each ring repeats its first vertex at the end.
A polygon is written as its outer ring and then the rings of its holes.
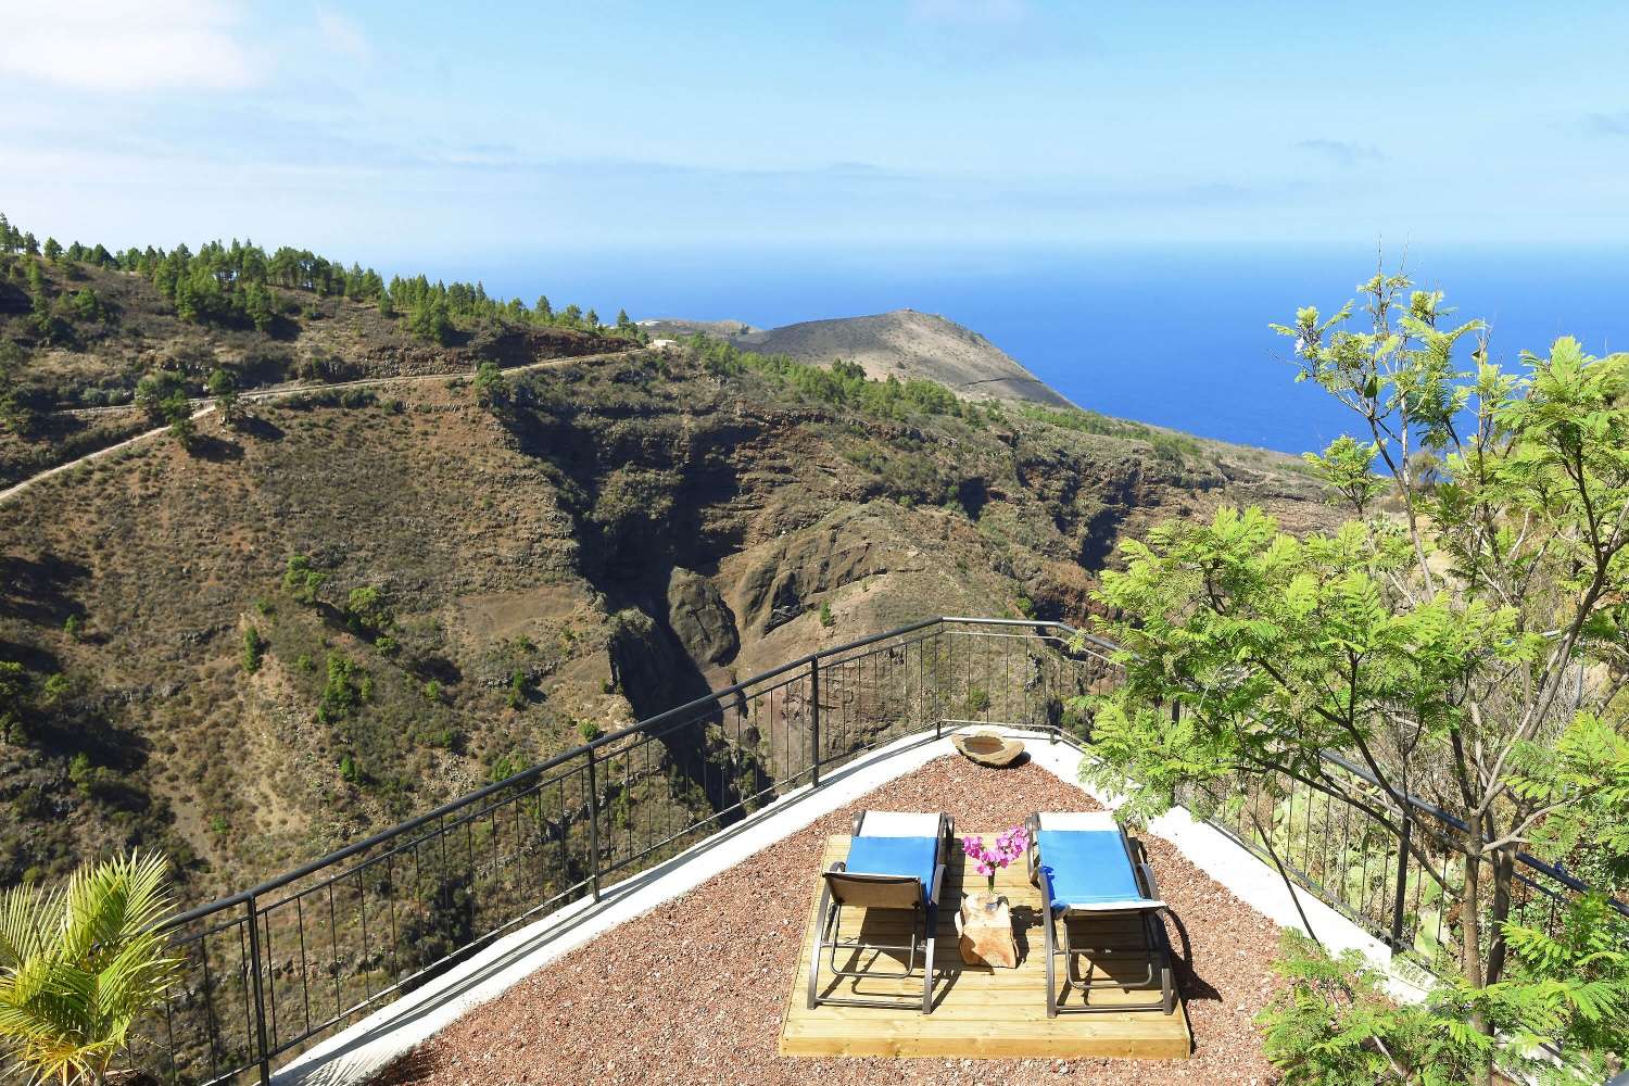
POLYGON ((476 7, 16 5, 0 210, 64 239, 381 265, 1629 243, 1621 5, 476 7))

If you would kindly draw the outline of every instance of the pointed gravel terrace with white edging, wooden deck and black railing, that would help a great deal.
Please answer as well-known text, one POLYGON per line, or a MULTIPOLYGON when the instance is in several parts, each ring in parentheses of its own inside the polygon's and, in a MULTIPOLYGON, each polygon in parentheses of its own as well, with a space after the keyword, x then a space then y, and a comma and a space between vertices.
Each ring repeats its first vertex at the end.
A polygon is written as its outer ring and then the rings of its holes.
MULTIPOLYGON (((1018 869, 1000 889, 1020 967, 963 966, 948 925, 977 876, 959 861, 932 1014, 805 1008, 818 873, 845 855, 854 812, 945 811, 961 832, 992 832, 1111 799, 1075 783, 1087 721, 1069 710, 1114 682, 1106 650, 1057 624, 922 622, 754 676, 194 910, 171 925, 191 974, 150 1024, 147 1063, 178 1081, 336 1086, 1269 1081, 1253 1018, 1277 983, 1279 926, 1305 917, 1326 944, 1386 962, 1443 923, 1419 897, 1420 850, 1293 782, 1240 780, 1236 822, 1173 811, 1144 835, 1171 913, 1171 1016, 1049 1019, 1039 902, 1018 869), (976 726, 1023 738, 1028 762, 953 755, 948 736, 976 726), (1285 830, 1282 873, 1246 814, 1285 830)), ((1579 889, 1543 865, 1521 886, 1552 909, 1579 889)), ((1407 974, 1394 975, 1406 993, 1407 974)))

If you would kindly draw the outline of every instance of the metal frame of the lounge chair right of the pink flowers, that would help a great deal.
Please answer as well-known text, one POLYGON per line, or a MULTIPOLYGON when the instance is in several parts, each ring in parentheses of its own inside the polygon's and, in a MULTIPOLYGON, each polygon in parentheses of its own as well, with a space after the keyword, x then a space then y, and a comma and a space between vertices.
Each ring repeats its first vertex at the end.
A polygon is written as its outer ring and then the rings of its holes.
MULTIPOLYGON (((1052 886, 1049 879, 1041 878, 1041 816, 1031 814, 1025 821, 1025 829, 1030 834, 1028 865, 1030 865, 1030 881, 1041 891, 1041 928, 1046 938, 1046 1016, 1057 1018, 1059 1014, 1109 1014, 1114 1011, 1163 1011, 1171 1014, 1176 1011, 1176 985, 1171 979, 1171 941, 1166 936, 1165 923, 1160 920, 1160 913, 1168 913, 1170 907, 1163 902, 1148 909, 1070 909, 1067 904, 1056 904, 1052 900, 1052 886), (1145 962, 1144 979, 1139 983, 1126 985, 1119 980, 1111 979, 1093 979, 1091 977, 1091 956, 1104 957, 1114 954, 1113 948, 1106 946, 1070 946, 1069 943, 1069 918, 1070 917, 1137 917, 1142 922, 1144 931, 1144 949, 1142 961, 1145 962), (1059 925, 1057 922, 1062 920, 1059 925), (1059 936, 1057 928, 1062 928, 1062 936, 1059 936), (1059 992, 1057 987, 1057 959, 1064 959, 1064 987, 1059 992), (1078 969, 1077 969, 1078 967, 1078 969), (1160 998, 1148 1000, 1144 1003, 1111 1003, 1106 1006, 1091 1006, 1091 992, 1098 988, 1152 988, 1155 983, 1155 970, 1160 975, 1160 998), (1069 990, 1075 988, 1080 992, 1080 1006, 1059 1006, 1062 996, 1069 995, 1069 990)), ((1131 861, 1132 876, 1137 879, 1137 891, 1144 899, 1150 902, 1160 900, 1160 886, 1153 879, 1153 868, 1148 865, 1148 852, 1144 848, 1142 842, 1135 837, 1126 834, 1126 827, 1116 822, 1119 830, 1121 847, 1126 850, 1126 860, 1131 861)), ((1124 951, 1119 951, 1124 957, 1124 951)))

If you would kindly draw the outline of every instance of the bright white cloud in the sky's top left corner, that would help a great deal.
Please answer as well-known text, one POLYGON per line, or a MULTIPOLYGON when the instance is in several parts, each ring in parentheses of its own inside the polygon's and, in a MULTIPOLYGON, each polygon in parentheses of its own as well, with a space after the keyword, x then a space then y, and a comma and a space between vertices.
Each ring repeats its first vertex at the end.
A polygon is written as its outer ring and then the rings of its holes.
POLYGON ((64 0, 7 13, 0 75, 88 91, 238 90, 264 75, 231 0, 64 0))

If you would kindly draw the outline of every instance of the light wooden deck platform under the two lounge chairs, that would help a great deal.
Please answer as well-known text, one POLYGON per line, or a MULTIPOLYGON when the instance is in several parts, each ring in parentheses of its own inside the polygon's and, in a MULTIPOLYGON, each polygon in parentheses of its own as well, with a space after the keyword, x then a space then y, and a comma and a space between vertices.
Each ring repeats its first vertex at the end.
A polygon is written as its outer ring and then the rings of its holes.
MULTIPOLYGON (((977 832, 963 830, 958 832, 977 832)), ((989 840, 992 834, 986 834, 989 840)), ((1101 1014, 1046 1016, 1046 944, 1041 933, 1041 896, 1030 886, 1023 865, 995 878, 995 889, 1007 896, 1018 939, 1018 969, 966 966, 956 946, 955 915, 961 905, 961 850, 951 848, 945 871, 943 902, 933 948, 933 1013, 911 1008, 878 1009, 863 1006, 819 1006, 808 1009, 810 948, 814 938, 814 910, 819 886, 803 925, 803 952, 792 980, 780 1024, 782 1055, 850 1057, 937 1057, 937 1058, 1132 1058, 1184 1060, 1192 1050, 1186 1008, 1178 1000, 1175 1014, 1160 1011, 1106 1011, 1101 1014)), ((849 855, 847 837, 831 837, 821 869, 849 855)), ((968 871, 966 889, 982 889, 984 876, 968 871)), ((852 915, 852 913, 850 913, 852 915)), ((844 917, 845 923, 849 915, 844 917)), ((883 943, 909 943, 909 917, 878 913, 865 922, 865 936, 883 943), (885 938, 893 936, 893 938, 885 938)), ((849 936, 852 926, 845 926, 849 936)), ((1077 944, 1142 946, 1135 920, 1100 920, 1091 928, 1070 928, 1077 944)), ((839 959, 841 961, 841 959, 839 959)), ((850 959, 854 961, 854 959, 850 959)), ((1062 962, 1059 962, 1062 966, 1062 962)), ((1095 962, 1116 969, 1117 962, 1095 962)), ((850 966, 857 967, 857 966, 850 966)), ((898 957, 883 957, 878 967, 898 972, 898 957)), ((1135 970, 1142 979, 1142 970, 1135 970)), ((1062 987, 1062 982, 1059 982, 1062 987)), ((821 992, 828 995, 876 998, 914 993, 920 1003, 920 975, 912 980, 847 980, 821 969, 821 992)), ((1158 990, 1153 992, 1153 996, 1158 990)), ((1098 1005, 1144 1003, 1147 988, 1108 988, 1091 993, 1098 1005)), ((1080 993, 1070 992, 1064 1006, 1078 1006, 1080 993)))

